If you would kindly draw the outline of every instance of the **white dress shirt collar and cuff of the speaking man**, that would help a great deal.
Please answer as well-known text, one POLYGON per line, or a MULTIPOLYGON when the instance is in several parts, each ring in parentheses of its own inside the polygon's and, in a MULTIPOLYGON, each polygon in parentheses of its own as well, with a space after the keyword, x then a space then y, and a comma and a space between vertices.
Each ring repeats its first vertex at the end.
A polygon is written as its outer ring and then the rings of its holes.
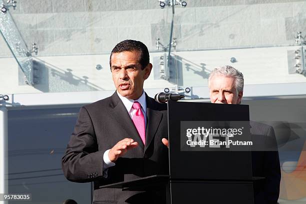
MULTIPOLYGON (((126 98, 126 97, 123 97, 122 95, 120 95, 120 93, 118 93, 118 91, 116 91, 116 93, 118 94, 120 100, 123 102, 130 118, 133 118, 133 115, 136 113, 137 109, 134 109, 132 106, 133 106, 133 103, 134 101, 138 101, 141 105, 141 111, 143 113, 143 116, 144 116, 144 123, 146 124, 146 100, 145 100, 145 93, 144 91, 142 91, 142 94, 141 96, 137 99, 137 100, 133 100, 133 99, 129 99, 129 98, 126 98)), ((146 125, 145 125, 146 126, 146 125)), ((145 127, 146 128, 146 127, 145 127)), ((107 149, 104 153, 103 153, 103 174, 102 176, 103 177, 107 177, 107 169, 110 167, 110 166, 114 166, 115 163, 110 161, 109 160, 109 157, 108 157, 108 152, 109 152, 110 149, 107 149)))

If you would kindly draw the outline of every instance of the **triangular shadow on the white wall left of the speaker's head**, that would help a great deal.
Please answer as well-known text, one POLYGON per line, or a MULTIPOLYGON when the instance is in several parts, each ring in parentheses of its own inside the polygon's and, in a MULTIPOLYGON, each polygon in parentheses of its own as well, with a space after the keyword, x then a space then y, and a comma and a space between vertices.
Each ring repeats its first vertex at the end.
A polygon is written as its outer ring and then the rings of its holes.
POLYGON ((73 70, 71 68, 62 70, 45 61, 33 60, 33 78, 35 82, 33 85, 34 88, 42 92, 103 90, 103 88, 90 83, 88 81, 88 76, 82 76, 82 78, 78 77, 73 75, 73 70))

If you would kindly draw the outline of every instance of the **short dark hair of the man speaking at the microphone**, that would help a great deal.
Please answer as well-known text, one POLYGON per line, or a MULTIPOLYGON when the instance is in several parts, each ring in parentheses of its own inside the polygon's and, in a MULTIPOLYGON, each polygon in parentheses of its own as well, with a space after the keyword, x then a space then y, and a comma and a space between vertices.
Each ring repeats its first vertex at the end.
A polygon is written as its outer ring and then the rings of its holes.
POLYGON ((138 61, 141 64, 141 69, 144 69, 145 66, 150 61, 150 56, 149 56, 149 53, 148 53, 148 50, 145 44, 137 40, 125 39, 117 43, 116 46, 114 46, 113 49, 111 50, 110 57, 109 57, 110 69, 111 69, 110 60, 111 60, 112 53, 119 53, 123 51, 138 51, 140 54, 138 61))

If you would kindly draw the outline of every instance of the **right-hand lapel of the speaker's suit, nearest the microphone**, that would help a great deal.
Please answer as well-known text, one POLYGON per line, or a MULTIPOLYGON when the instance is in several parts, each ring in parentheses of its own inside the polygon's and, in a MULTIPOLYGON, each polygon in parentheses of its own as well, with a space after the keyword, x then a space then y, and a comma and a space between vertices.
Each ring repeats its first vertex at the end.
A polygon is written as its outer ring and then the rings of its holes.
MULTIPOLYGON (((154 107, 153 99, 148 97, 145 94, 146 98, 146 115, 147 115, 147 125, 146 125, 146 131, 145 131, 145 146, 144 146, 144 152, 147 149, 147 147, 152 142, 156 131, 158 129, 158 126, 160 124, 160 120, 162 118, 162 112, 158 111, 154 107)), ((161 141, 160 141, 161 142, 161 141)))

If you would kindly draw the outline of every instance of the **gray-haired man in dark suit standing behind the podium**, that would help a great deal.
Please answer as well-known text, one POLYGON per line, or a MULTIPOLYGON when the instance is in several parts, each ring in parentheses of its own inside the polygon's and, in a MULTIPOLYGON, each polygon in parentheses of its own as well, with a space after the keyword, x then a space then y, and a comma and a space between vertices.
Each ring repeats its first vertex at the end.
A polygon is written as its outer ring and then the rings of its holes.
MULTIPOLYGON (((239 104, 243 95, 243 82, 242 73, 234 67, 226 65, 215 68, 208 78, 210 101, 239 104)), ((256 147, 260 147, 251 152, 253 176, 265 177, 253 185, 254 202, 277 203, 280 165, 274 130, 269 125, 250 121, 250 133, 256 147)))

